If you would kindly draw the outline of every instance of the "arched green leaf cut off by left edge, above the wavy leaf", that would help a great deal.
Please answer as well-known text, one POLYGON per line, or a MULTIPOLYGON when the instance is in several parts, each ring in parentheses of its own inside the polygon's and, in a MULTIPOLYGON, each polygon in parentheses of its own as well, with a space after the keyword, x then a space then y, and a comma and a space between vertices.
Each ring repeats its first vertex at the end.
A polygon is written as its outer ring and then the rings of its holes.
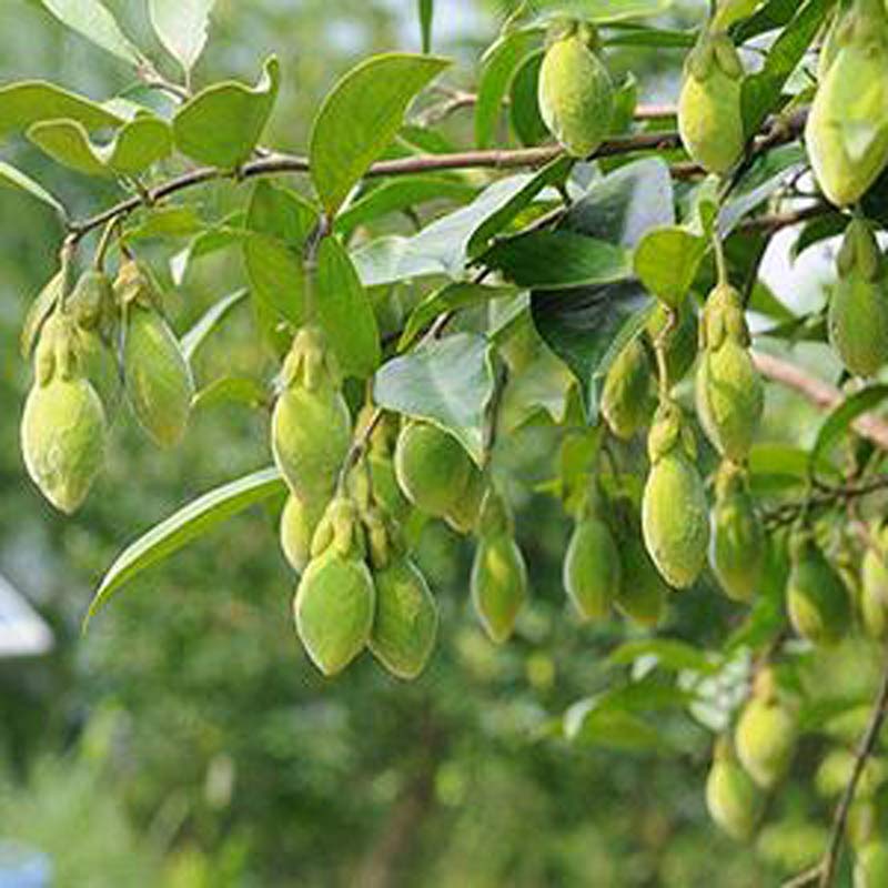
POLYGON ((88 130, 119 127, 123 119, 89 99, 38 80, 0 87, 0 138, 41 120, 75 120, 88 130))

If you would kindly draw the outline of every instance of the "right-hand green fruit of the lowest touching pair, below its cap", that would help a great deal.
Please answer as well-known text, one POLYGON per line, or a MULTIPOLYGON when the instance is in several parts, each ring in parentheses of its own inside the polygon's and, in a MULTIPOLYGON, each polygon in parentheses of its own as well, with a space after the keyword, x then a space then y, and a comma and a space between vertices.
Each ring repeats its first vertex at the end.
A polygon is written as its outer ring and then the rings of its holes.
POLYGON ((416 678, 428 663, 437 636, 437 605, 413 562, 395 557, 373 572, 376 615, 370 635, 373 656, 392 675, 416 678))

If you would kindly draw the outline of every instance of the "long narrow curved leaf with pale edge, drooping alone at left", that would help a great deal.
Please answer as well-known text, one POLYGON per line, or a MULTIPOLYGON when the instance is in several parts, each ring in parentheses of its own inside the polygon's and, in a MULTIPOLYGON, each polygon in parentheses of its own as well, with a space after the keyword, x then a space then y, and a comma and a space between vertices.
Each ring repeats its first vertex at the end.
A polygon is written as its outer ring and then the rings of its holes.
POLYGON ((84 628, 89 619, 124 583, 205 535, 222 522, 285 490, 284 480, 276 468, 263 468, 210 491, 152 527, 128 546, 102 577, 87 614, 84 628))

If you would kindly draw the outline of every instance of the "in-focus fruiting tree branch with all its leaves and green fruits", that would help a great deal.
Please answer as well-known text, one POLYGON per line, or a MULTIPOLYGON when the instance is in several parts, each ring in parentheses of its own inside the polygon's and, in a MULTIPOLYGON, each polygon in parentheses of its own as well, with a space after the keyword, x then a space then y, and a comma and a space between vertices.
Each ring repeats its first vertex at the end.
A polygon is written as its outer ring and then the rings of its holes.
MULTIPOLYGON (((797 664, 852 634, 888 635, 888 424, 875 413, 888 386, 874 381, 888 359, 882 0, 724 0, 693 32, 645 23, 666 0, 523 2, 473 92, 448 85, 448 61, 431 53, 426 0, 424 52, 346 74, 305 157, 262 143, 282 78, 274 58, 254 87, 195 88, 212 2, 148 4, 176 80, 99 0, 43 3, 148 89, 103 103, 44 82, 0 89, 0 132, 125 192, 72 219, 44 185, 0 165, 4 184, 65 228, 22 333, 31 477, 77 509, 124 404, 162 447, 196 407, 264 412, 256 451, 274 462, 129 546, 90 615, 160 558, 285 492, 295 625, 324 674, 365 648, 401 678, 422 673, 437 610, 411 548, 427 521, 476 539, 472 601, 504 643, 528 583, 501 461, 521 426, 545 423, 561 442, 546 490, 575 522, 564 562, 575 616, 616 610, 647 630, 614 653, 633 664, 635 693, 582 702, 565 730, 644 738, 642 713, 696 709, 719 735, 712 815, 749 839, 799 737, 827 716, 860 715, 859 700, 818 712, 797 664), (675 107, 638 104, 635 80, 608 73, 609 48, 652 46, 686 53, 675 107), (133 98, 152 91, 165 100, 133 98), (466 150, 442 131, 464 109, 475 115, 466 150), (309 188, 291 189, 293 176, 309 188), (186 195, 221 180, 243 189, 243 210, 200 215, 186 195), (398 215, 415 233, 391 233, 398 215), (794 313, 759 279, 787 226, 800 229, 797 253, 842 238, 821 312, 794 313), (246 285, 179 336, 145 242, 183 236, 164 278, 181 283, 190 263, 229 250, 246 285), (280 372, 195 381, 195 351, 244 302, 280 372), (763 343, 828 342, 844 391, 754 351, 750 323, 763 343), (829 411, 810 446, 761 440, 774 384, 829 411), (713 594, 709 577, 736 602, 720 648, 658 634, 677 596, 713 594), (676 674, 668 694, 646 684, 652 664, 676 674)), ((846 722, 818 771, 838 786, 835 824, 793 884, 834 884, 846 835, 860 884, 888 878, 875 757, 887 708, 888 659, 864 724, 851 718, 856 751, 841 747, 846 722)))

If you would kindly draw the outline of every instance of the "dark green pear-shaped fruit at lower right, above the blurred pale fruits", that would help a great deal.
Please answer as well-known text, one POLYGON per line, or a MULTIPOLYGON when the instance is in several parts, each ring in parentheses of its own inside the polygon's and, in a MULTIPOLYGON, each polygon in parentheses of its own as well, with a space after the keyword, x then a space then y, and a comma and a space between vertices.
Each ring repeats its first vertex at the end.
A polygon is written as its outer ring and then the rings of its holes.
POLYGON ((786 605, 793 628, 815 645, 836 644, 850 626, 848 591, 807 534, 793 543, 786 605))

